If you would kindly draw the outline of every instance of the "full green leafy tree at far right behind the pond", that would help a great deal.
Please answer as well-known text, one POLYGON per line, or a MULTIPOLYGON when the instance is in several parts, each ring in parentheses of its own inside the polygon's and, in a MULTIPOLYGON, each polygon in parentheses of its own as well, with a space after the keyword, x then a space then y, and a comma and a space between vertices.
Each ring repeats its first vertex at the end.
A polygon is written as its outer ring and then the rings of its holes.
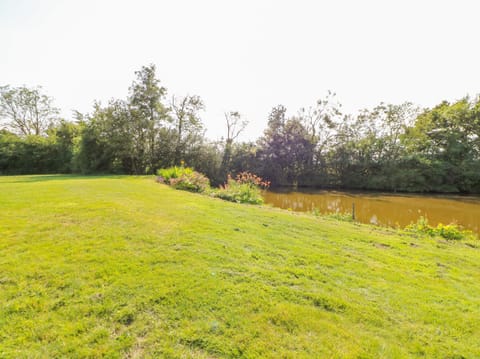
POLYGON ((444 101, 423 111, 408 129, 404 143, 425 178, 426 186, 420 190, 469 192, 480 188, 476 101, 444 101))

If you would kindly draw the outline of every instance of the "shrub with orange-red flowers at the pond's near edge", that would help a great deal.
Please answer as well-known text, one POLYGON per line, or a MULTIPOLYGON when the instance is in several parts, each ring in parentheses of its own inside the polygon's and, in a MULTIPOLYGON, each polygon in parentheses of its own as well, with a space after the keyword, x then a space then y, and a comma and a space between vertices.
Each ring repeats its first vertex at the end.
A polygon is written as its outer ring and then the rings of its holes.
POLYGON ((268 188, 269 182, 249 173, 239 173, 235 179, 228 175, 227 183, 214 192, 214 196, 230 202, 262 204, 262 188, 268 188))

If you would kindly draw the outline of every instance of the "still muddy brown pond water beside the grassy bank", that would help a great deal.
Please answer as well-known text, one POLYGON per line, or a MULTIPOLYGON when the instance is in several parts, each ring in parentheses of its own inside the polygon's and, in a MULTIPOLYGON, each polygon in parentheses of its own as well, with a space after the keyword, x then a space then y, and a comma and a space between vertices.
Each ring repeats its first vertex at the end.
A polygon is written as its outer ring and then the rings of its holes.
POLYGON ((480 235, 480 197, 297 190, 266 191, 264 199, 274 207, 319 213, 352 213, 355 203, 362 223, 403 228, 424 216, 432 226, 456 223, 480 235))

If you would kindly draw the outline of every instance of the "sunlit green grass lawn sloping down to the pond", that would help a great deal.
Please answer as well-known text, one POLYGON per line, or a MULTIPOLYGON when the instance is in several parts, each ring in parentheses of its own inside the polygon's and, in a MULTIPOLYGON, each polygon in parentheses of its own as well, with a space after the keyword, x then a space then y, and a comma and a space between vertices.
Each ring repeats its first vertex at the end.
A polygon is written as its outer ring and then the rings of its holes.
POLYGON ((1 177, 0 357, 478 358, 477 243, 150 177, 1 177))

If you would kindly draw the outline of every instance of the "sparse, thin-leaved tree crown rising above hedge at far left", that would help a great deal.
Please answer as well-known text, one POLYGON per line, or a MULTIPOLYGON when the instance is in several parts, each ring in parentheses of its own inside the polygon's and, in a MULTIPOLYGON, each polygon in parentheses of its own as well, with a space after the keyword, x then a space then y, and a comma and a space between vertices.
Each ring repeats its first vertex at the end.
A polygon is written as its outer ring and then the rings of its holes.
POLYGON ((41 87, 0 87, 0 120, 13 132, 22 135, 45 135, 57 120, 60 110, 41 87))

